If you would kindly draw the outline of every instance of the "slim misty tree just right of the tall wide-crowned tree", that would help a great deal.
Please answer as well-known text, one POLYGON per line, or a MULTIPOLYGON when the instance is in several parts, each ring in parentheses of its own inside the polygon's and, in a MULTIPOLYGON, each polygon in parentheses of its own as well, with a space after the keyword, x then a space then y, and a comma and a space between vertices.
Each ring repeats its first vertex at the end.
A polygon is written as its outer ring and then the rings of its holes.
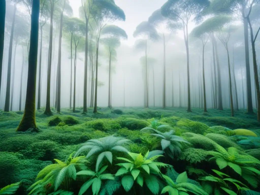
MULTIPOLYGON (((210 33, 205 32, 205 28, 207 28, 207 21, 203 22, 199 26, 195 27, 192 32, 191 36, 197 37, 202 42, 202 75, 203 75, 203 98, 204 98, 204 112, 207 111, 207 104, 206 104, 206 87, 205 87, 205 68, 204 68, 204 51, 205 45, 209 40, 210 33)), ((215 24, 214 24, 215 25, 215 24)))

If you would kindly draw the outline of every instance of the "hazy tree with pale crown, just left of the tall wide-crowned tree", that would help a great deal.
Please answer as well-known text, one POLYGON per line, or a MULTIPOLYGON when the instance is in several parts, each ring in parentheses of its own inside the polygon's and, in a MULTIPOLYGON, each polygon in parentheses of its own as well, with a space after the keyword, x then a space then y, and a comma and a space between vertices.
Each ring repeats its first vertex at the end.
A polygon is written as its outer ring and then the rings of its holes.
POLYGON ((162 92, 162 108, 166 107, 166 41, 165 33, 167 30, 173 31, 181 28, 181 23, 171 22, 168 18, 162 16, 161 9, 155 10, 152 15, 148 18, 148 22, 151 23, 157 31, 162 34, 163 47, 164 47, 164 61, 163 61, 163 92, 162 92))

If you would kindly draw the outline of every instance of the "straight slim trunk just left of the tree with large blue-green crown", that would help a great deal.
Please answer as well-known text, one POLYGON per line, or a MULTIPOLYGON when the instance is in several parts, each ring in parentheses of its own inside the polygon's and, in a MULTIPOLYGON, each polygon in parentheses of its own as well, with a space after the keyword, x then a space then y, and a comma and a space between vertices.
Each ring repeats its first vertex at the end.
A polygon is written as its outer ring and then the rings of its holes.
MULTIPOLYGON (((83 89, 83 113, 87 112, 87 75, 88 75, 88 17, 86 19, 86 36, 85 36, 85 63, 84 63, 84 89, 83 89)), ((97 70, 96 70, 97 71, 97 70)))

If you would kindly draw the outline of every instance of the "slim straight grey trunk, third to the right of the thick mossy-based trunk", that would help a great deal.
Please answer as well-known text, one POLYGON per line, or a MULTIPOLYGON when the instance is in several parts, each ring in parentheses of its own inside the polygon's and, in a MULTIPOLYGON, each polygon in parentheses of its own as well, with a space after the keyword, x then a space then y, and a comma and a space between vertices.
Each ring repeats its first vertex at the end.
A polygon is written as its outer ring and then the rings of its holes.
POLYGON ((58 100, 57 100, 57 112, 61 112, 61 37, 62 37, 62 22, 63 22, 63 11, 65 8, 66 0, 64 0, 63 9, 61 12, 61 22, 60 22, 60 36, 59 36, 59 53, 58 53, 58 100))

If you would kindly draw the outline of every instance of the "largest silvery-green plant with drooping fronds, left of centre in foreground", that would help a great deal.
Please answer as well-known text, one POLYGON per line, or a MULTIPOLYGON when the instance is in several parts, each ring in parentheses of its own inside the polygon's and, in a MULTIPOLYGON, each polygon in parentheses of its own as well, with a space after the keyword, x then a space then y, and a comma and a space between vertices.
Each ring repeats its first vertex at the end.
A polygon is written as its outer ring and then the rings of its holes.
POLYGON ((113 153, 115 152, 128 152, 128 150, 122 145, 129 142, 127 139, 118 138, 114 136, 108 136, 100 139, 88 140, 83 146, 76 152, 75 157, 82 152, 87 152, 86 158, 88 159, 92 155, 97 155, 96 160, 96 172, 99 170, 99 165, 102 160, 106 159, 112 164, 113 153), (112 153, 113 152, 113 153, 112 153))

